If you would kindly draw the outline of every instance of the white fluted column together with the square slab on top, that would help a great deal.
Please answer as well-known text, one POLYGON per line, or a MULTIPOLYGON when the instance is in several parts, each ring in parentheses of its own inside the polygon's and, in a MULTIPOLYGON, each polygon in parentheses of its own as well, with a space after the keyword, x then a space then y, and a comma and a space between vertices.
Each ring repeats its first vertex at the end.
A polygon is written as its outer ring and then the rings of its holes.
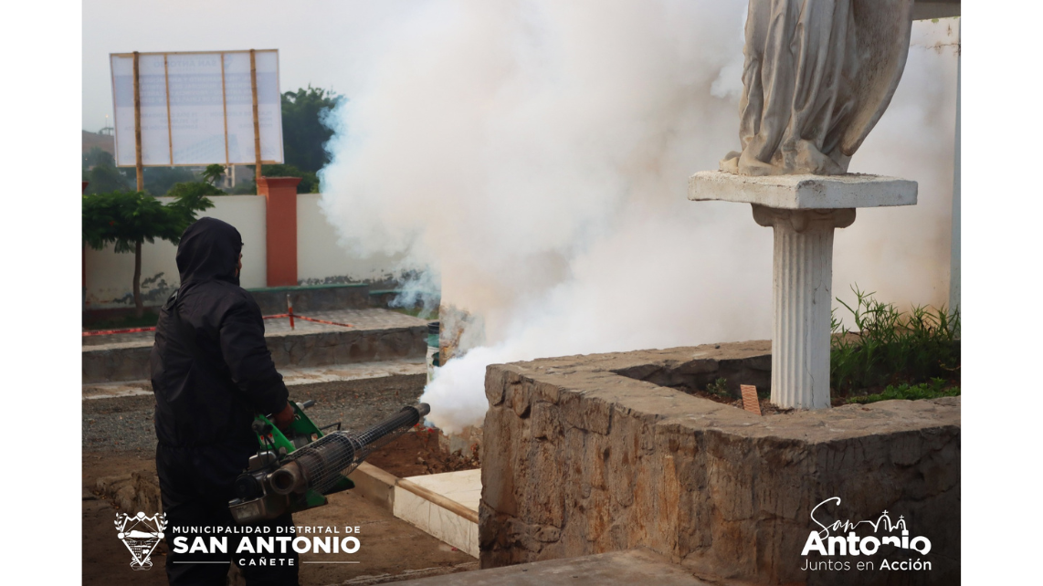
POLYGON ((851 225, 855 207, 915 205, 916 195, 916 181, 856 173, 688 178, 688 199, 752 203, 757 223, 775 230, 772 402, 829 407, 833 229, 851 225))

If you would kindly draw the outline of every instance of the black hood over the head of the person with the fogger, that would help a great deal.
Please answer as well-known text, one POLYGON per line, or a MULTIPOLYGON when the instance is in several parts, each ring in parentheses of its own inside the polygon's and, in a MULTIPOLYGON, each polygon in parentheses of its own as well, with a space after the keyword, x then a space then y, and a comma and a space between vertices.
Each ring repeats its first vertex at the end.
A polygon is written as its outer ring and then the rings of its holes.
POLYGON ((239 230, 215 218, 200 218, 185 228, 177 245, 177 272, 181 286, 203 280, 239 285, 236 268, 243 239, 239 230))

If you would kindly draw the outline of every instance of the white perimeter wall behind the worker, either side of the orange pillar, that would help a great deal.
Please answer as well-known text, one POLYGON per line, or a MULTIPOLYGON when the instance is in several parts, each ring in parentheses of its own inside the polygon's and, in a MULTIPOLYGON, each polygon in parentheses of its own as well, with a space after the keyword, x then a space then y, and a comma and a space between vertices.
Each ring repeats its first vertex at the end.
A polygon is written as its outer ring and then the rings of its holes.
MULTIPOLYGON (((319 210, 319 194, 297 195, 297 278, 308 282, 381 280, 392 273, 397 259, 351 257, 337 244, 337 231, 319 210)), ((161 197, 167 203, 170 198, 161 197)), ((258 195, 211 197, 214 207, 199 214, 236 226, 243 237, 245 288, 265 287, 265 200, 258 195)), ((176 247, 157 240, 142 246, 142 295, 146 306, 159 306, 179 285, 176 247)), ((117 254, 112 246, 104 250, 88 248, 84 255, 87 291, 84 309, 100 310, 134 307, 134 253, 117 254)))

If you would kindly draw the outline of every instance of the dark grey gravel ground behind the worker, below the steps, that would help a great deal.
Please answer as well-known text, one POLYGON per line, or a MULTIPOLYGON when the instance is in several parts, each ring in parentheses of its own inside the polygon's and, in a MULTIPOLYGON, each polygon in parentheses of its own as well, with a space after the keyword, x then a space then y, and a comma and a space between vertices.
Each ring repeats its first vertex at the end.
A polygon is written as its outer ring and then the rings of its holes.
MULTIPOLYGON (((315 399, 308 416, 319 426, 342 421, 345 430, 360 430, 416 404, 425 382, 425 374, 413 374, 297 385, 290 398, 315 399)), ((84 400, 83 449, 154 453, 154 411, 148 395, 84 400)))

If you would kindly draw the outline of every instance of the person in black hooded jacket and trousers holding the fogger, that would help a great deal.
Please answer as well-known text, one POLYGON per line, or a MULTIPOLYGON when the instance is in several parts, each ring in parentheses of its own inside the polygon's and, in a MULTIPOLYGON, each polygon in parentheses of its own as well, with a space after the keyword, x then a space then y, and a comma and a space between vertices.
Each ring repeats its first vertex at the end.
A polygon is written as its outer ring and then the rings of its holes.
MULTIPOLYGON (((177 246, 180 287, 164 304, 155 328, 149 366, 171 585, 223 586, 233 560, 248 585, 297 584, 292 550, 265 555, 266 561, 276 558, 273 564, 251 565, 251 556, 235 553, 241 534, 214 533, 237 527, 228 500, 236 477, 258 451, 250 428, 254 414, 270 415, 280 428, 293 421, 286 385, 265 345, 261 309, 239 287, 241 269, 239 230, 214 218, 193 223, 177 246), (208 544, 211 536, 226 536, 228 553, 174 552, 175 537, 187 536, 191 545, 196 535, 208 544)), ((292 526, 286 514, 269 523, 268 535, 288 535, 282 528, 292 526)))

